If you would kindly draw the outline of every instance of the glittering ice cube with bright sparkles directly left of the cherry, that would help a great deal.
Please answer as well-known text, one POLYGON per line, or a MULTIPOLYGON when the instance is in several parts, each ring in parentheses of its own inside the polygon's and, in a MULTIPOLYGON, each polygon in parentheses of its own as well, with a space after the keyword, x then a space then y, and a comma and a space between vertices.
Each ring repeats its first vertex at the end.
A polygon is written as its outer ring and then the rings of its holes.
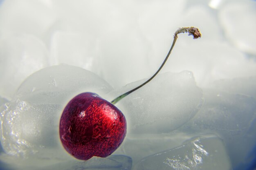
POLYGON ((34 104, 19 99, 6 104, 1 112, 4 151, 20 157, 63 155, 58 139, 58 119, 62 110, 63 107, 57 104, 34 104))

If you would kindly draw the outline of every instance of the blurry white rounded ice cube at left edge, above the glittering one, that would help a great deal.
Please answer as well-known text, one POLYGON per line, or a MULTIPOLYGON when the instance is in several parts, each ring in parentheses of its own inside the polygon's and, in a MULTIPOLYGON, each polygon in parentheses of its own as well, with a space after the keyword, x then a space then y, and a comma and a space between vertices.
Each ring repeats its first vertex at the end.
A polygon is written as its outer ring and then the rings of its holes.
POLYGON ((49 53, 39 38, 17 34, 0 40, 0 95, 11 99, 27 76, 47 66, 49 53))

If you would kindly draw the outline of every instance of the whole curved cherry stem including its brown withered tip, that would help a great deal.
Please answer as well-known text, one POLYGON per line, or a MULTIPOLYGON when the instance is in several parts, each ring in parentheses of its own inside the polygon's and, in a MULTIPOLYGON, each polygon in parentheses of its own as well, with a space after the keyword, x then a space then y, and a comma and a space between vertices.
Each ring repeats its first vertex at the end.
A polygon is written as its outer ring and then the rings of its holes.
POLYGON ((171 45, 171 49, 169 50, 168 54, 166 55, 165 59, 164 59, 164 62, 162 63, 162 65, 158 68, 157 72, 155 72, 155 74, 150 77, 146 82, 144 82, 143 84, 137 86, 136 88, 120 95, 119 97, 115 98, 114 100, 111 101, 112 104, 116 104, 117 102, 119 102, 119 100, 123 99, 124 97, 126 97, 127 95, 129 95, 130 93, 136 91, 137 89, 141 88, 142 86, 144 86, 145 84, 147 84, 148 82, 150 82, 158 73, 159 71, 163 68, 164 64, 166 63, 168 57, 170 56, 172 50, 173 50, 173 47, 176 43, 176 40, 178 38, 178 34, 179 33, 189 33, 189 35, 193 35, 193 38, 200 38, 201 37, 201 33, 199 31, 198 28, 195 28, 193 26, 191 27, 182 27, 182 28, 179 28, 175 33, 174 33, 174 39, 173 39, 173 44, 171 45))

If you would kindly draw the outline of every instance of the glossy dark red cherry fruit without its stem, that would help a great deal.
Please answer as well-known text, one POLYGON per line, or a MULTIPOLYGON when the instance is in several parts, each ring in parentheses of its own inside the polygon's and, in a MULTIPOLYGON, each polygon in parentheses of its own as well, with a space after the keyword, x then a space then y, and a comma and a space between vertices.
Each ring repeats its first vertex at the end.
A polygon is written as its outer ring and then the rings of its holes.
POLYGON ((107 157, 126 135, 126 119, 113 104, 95 93, 81 93, 65 107, 60 121, 61 142, 71 155, 87 160, 107 157))

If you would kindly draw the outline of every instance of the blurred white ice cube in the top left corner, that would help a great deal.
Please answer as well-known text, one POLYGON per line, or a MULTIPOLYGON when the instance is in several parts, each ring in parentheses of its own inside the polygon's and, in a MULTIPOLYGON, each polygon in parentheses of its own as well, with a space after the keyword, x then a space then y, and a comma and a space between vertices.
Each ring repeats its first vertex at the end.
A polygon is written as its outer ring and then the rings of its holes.
POLYGON ((5 0, 0 7, 0 37, 9 38, 17 33, 40 37, 56 20, 51 6, 36 0, 5 0))

